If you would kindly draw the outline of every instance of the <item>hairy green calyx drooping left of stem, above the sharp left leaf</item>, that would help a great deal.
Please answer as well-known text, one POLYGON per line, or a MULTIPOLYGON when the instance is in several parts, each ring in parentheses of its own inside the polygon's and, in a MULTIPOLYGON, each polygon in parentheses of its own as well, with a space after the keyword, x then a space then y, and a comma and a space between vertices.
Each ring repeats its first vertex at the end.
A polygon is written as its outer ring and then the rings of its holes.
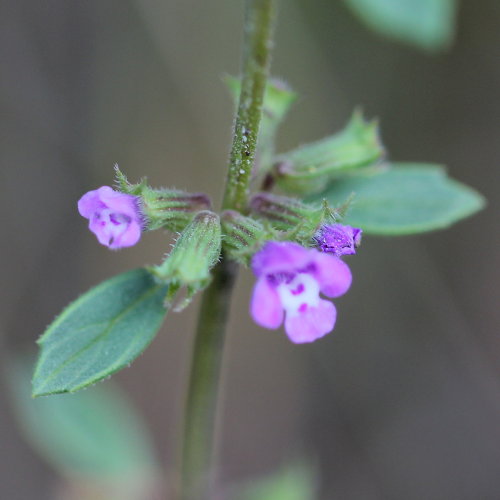
MULTIPOLYGON (((174 293, 182 286, 187 288, 183 308, 210 282, 210 269, 218 262, 220 251, 219 216, 204 210, 186 226, 163 263, 150 270, 159 281, 171 284, 174 293)), ((169 295, 167 300, 171 298, 169 295)))

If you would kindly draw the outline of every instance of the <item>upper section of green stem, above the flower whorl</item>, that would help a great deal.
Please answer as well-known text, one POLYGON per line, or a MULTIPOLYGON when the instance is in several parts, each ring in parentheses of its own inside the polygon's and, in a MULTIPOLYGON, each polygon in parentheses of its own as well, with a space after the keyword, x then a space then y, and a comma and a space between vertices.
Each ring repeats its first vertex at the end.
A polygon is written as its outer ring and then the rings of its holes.
POLYGON ((246 210, 271 62, 274 10, 274 0, 246 1, 243 75, 223 209, 246 210))

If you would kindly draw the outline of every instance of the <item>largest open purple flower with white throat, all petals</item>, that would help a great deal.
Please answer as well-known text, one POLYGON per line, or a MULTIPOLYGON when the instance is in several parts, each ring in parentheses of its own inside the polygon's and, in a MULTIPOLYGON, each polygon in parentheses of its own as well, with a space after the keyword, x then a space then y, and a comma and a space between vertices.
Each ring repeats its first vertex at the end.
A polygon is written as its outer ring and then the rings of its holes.
POLYGON ((252 259, 257 276, 250 313, 259 325, 275 329, 283 322, 296 344, 313 342, 332 331, 337 311, 328 300, 351 286, 351 271, 338 257, 297 243, 270 241, 252 259))

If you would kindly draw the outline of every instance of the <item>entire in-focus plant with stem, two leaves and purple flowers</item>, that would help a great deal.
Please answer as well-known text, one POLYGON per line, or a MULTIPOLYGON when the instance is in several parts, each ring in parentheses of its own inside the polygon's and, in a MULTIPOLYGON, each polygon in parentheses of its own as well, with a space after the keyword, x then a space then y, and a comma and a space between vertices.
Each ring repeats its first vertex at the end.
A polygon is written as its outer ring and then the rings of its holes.
POLYGON ((242 77, 228 81, 238 109, 220 213, 206 194, 155 189, 146 179, 132 184, 116 168, 115 189, 102 186, 78 202, 99 243, 131 247, 158 229, 176 234, 176 242, 162 263, 115 276, 71 303, 39 339, 34 395, 74 392, 129 365, 170 309, 203 292, 182 437, 186 500, 207 490, 238 267, 256 277, 255 323, 284 323, 292 342, 313 342, 335 326, 336 307, 322 295, 336 298, 351 287, 343 259, 356 254, 362 234, 439 229, 483 206, 478 193, 439 166, 389 162, 377 123, 359 112, 340 132, 277 154, 275 134, 295 93, 268 78, 274 3, 247 2, 242 77))

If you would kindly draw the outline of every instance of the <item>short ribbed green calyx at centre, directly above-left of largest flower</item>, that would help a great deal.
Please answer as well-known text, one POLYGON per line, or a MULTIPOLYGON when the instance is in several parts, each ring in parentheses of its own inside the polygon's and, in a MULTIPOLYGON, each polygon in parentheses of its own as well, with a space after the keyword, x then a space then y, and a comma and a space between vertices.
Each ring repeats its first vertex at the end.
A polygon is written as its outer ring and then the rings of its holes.
POLYGON ((225 252, 243 265, 247 265, 250 257, 274 235, 272 230, 266 229, 259 221, 234 210, 222 213, 221 225, 225 252))

